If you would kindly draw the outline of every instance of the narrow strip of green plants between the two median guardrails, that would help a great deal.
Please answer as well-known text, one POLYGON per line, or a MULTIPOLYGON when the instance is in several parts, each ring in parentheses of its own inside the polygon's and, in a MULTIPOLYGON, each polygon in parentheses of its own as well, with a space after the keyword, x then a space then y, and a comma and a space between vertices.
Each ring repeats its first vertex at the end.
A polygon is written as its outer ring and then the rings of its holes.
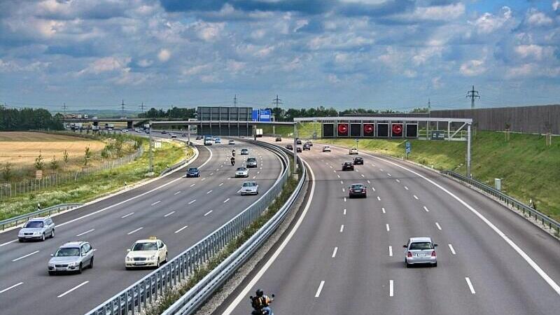
MULTIPOLYGON (((301 171, 300 171, 300 176, 301 176, 301 171)), ((209 260, 209 262, 207 262, 207 264, 202 265, 201 267, 195 269, 193 276, 190 276, 190 278, 187 281, 176 286, 176 288, 166 290, 165 293, 162 295, 162 297, 158 298, 157 301, 155 301, 153 304, 148 306, 148 309, 146 309, 145 314, 146 315, 162 314, 163 311, 171 307, 172 304, 177 300, 179 300, 179 298, 183 296, 185 293, 187 293, 188 290, 190 290, 190 288, 193 288, 193 286, 195 286, 195 284, 198 283, 198 281, 202 280, 204 276, 209 274, 209 272, 211 272, 214 268, 220 265, 221 262, 225 260, 225 258, 228 258, 229 255, 235 252, 237 248, 239 248, 242 244, 244 244, 245 241, 247 241, 251 236, 253 236, 255 232, 257 232, 260 228, 262 228, 262 225, 265 225, 265 223, 267 223, 270 220, 270 218, 272 218, 272 216, 274 216, 274 214, 276 214, 276 212, 278 212, 279 209, 281 209, 283 204, 286 203, 286 201, 288 200, 290 195, 292 195, 296 187, 297 187, 297 180, 293 179, 293 177, 290 176, 290 178, 288 179, 288 181, 283 187, 282 193, 280 193, 279 197, 277 197, 276 200, 274 200, 274 202, 268 207, 267 211, 265 211, 257 220, 251 223, 251 225, 249 225, 248 228, 243 230, 239 236, 237 236, 235 239, 230 241, 230 243, 228 243, 222 249, 222 251, 214 255, 214 257, 212 257, 209 260)))

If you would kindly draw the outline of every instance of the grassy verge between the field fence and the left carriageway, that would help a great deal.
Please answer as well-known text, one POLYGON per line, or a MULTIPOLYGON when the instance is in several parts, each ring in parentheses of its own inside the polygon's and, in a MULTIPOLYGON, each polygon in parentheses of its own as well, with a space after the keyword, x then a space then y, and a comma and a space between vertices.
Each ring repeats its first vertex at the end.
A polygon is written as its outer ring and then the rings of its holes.
MULTIPOLYGON (((35 211, 38 203, 41 204, 41 207, 46 208, 56 204, 89 202, 100 195, 123 188, 125 182, 127 185, 131 185, 145 179, 144 175, 148 170, 148 144, 143 145, 145 148, 144 155, 122 167, 92 176, 85 176, 78 181, 71 181, 38 193, 18 195, 1 200, 0 220, 35 211)), ((193 155, 193 150, 175 143, 163 143, 162 148, 154 152, 155 174, 160 174, 167 165, 174 165, 176 162, 183 160, 186 155, 193 155)))

